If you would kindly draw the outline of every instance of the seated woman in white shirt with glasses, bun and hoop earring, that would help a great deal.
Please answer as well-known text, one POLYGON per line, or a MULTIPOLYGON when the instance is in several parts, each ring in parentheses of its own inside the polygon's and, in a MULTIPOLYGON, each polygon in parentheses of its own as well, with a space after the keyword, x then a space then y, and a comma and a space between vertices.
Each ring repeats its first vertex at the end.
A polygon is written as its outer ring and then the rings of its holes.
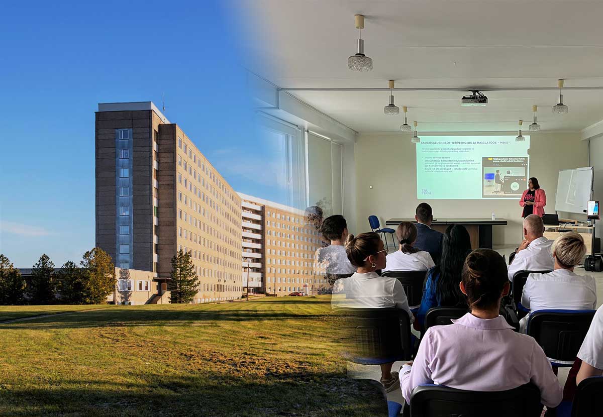
MULTIPOLYGON (((356 266, 356 272, 349 278, 341 278, 333 286, 333 307, 352 309, 404 310, 411 322, 412 313, 408 308, 406 293, 396 278, 381 277, 377 269, 385 268, 387 249, 377 233, 350 234, 346 240, 347 257, 356 266)), ((391 372, 394 363, 381 365, 381 383, 386 392, 397 388, 398 373, 391 372)))

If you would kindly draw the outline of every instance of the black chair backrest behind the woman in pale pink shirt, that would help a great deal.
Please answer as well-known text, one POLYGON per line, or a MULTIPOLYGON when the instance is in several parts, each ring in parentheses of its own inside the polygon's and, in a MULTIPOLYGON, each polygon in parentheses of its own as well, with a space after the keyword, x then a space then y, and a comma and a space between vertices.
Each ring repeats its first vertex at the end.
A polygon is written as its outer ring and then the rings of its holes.
POLYGON ((441 385, 421 385, 411 394, 411 417, 538 417, 540 390, 525 384, 506 391, 466 391, 441 385))

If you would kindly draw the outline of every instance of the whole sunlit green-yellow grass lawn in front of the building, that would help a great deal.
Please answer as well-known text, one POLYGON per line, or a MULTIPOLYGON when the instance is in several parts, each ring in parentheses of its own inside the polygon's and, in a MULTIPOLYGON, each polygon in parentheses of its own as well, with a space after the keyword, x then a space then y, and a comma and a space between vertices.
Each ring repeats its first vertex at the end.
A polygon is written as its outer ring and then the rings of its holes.
POLYGON ((333 333, 324 296, 0 324, 0 416, 387 415, 378 389, 346 377, 333 333))

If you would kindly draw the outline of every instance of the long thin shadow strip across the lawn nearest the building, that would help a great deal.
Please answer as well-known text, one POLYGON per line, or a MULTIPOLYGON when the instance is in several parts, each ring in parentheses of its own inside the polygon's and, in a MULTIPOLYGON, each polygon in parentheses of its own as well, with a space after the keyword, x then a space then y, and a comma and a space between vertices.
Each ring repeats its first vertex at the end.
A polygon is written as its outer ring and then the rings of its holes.
POLYGON ((288 313, 257 310, 160 310, 160 309, 106 309, 92 312, 69 313, 48 316, 30 321, 0 324, 0 329, 53 329, 84 328, 104 325, 144 326, 162 325, 207 325, 217 326, 223 322, 254 322, 274 320, 330 320, 330 311, 324 314, 288 313))

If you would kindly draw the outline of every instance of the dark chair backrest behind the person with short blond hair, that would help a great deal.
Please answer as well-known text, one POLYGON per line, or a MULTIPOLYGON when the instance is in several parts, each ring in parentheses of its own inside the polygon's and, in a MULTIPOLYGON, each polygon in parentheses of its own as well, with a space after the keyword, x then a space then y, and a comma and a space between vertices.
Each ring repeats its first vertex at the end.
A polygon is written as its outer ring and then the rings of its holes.
POLYGON ((546 357, 573 361, 589 331, 595 310, 538 310, 528 320, 534 337, 546 357))

